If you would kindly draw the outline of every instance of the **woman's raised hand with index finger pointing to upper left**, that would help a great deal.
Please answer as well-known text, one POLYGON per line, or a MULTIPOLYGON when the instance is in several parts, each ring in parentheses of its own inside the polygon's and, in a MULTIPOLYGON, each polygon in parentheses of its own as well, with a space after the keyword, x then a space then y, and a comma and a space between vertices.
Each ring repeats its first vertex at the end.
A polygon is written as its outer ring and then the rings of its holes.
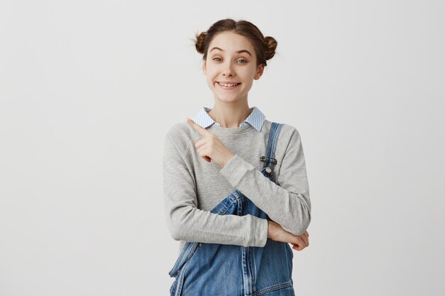
POLYGON ((213 160, 220 168, 224 168, 225 164, 228 163, 235 154, 220 141, 218 136, 215 136, 199 124, 196 124, 192 119, 187 118, 187 121, 195 131, 198 131, 198 133, 203 136, 200 141, 193 140, 200 157, 209 163, 213 160))

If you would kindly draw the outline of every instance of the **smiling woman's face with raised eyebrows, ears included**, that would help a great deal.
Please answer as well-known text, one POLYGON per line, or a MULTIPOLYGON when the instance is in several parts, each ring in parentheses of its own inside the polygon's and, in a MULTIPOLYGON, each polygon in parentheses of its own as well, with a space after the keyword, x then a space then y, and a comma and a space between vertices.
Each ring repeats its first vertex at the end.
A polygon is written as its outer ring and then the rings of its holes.
POLYGON ((263 70, 264 65, 257 66, 257 55, 250 40, 228 31, 215 35, 203 61, 208 87, 215 99, 223 102, 247 101, 253 80, 258 80, 263 70), (225 82, 236 86, 220 84, 225 82))

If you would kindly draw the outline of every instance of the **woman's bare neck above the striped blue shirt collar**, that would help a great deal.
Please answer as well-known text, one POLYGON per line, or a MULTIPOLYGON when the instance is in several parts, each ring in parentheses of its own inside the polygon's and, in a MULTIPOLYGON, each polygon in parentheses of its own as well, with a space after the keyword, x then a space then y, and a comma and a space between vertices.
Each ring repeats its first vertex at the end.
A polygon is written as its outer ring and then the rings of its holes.
POLYGON ((215 100, 213 109, 208 112, 208 115, 224 128, 237 128, 250 113, 247 99, 230 103, 215 100))

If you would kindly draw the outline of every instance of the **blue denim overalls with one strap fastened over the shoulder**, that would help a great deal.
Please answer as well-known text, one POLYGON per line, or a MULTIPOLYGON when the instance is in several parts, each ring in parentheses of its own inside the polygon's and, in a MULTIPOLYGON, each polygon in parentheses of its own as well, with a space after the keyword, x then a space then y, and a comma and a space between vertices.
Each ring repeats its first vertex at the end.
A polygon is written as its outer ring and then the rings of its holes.
MULTIPOLYGON (((274 181, 275 148, 283 124, 272 122, 267 156, 261 170, 274 181)), ((220 215, 252 214, 269 219, 250 199, 234 190, 210 212, 220 215)), ((289 243, 267 239, 264 247, 186 242, 172 270, 176 280, 171 296, 294 296, 292 253, 289 243)))

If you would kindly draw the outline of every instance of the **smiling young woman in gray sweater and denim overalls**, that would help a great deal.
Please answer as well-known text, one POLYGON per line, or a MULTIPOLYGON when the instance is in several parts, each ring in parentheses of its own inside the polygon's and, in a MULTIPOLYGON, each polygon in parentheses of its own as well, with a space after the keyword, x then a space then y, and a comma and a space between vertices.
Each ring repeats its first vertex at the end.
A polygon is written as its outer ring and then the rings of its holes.
POLYGON ((301 137, 247 102, 277 41, 224 19, 195 48, 215 103, 164 141, 166 221, 181 241, 171 295, 294 295, 289 243, 309 246, 311 221, 301 137))

